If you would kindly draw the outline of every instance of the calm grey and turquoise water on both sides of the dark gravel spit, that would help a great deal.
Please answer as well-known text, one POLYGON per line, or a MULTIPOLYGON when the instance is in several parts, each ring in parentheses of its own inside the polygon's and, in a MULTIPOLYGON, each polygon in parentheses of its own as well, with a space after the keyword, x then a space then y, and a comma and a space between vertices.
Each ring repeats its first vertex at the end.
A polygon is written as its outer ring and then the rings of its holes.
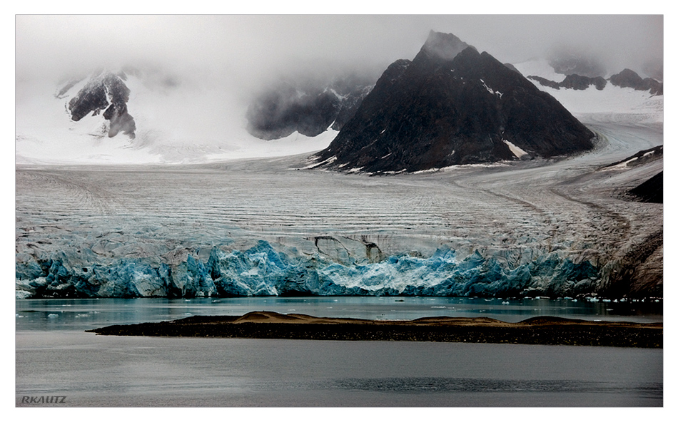
POLYGON ((16 406, 662 406, 662 349, 84 332, 253 310, 372 319, 481 315, 518 321, 555 314, 662 321, 660 309, 647 314, 652 304, 616 305, 450 298, 18 300, 16 406), (640 311, 645 314, 633 315, 640 311), (22 403, 41 396, 65 398, 22 403))

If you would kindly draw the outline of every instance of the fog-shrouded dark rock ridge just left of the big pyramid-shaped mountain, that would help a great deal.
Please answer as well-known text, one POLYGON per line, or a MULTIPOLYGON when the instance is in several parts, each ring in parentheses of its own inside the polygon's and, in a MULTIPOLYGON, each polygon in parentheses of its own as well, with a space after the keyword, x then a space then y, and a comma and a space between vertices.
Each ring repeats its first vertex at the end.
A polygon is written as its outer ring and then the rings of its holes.
POLYGON ((284 81, 267 88, 248 107, 247 130, 260 139, 284 138, 297 131, 315 136, 341 130, 358 110, 374 81, 355 75, 329 82, 284 81))

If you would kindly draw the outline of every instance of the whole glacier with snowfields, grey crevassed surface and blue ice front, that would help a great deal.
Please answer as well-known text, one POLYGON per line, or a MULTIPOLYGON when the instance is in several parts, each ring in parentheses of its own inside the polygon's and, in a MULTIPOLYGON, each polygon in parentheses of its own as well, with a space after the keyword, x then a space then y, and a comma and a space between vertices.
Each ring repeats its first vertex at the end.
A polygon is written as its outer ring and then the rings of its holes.
POLYGON ((63 100, 34 95, 17 105, 16 298, 661 294, 663 205, 617 194, 663 161, 600 169, 663 144, 663 96, 542 90, 597 133, 592 152, 381 177, 308 170, 331 131, 92 142, 87 122, 57 124, 63 100), (611 289, 629 271, 658 288, 611 289))

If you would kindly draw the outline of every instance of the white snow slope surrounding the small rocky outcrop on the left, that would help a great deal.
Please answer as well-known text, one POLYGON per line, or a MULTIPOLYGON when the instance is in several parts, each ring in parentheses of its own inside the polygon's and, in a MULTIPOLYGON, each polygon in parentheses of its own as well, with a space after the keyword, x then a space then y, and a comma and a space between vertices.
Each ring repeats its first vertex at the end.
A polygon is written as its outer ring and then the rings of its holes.
POLYGON ((328 130, 315 138, 293 133, 260 140, 244 129, 246 105, 228 86, 176 80, 157 71, 127 73, 128 113, 136 136, 108 137, 106 120, 70 118, 68 103, 88 78, 59 97, 51 81, 16 83, 16 163, 144 164, 205 163, 214 160, 307 153, 329 145, 328 130))

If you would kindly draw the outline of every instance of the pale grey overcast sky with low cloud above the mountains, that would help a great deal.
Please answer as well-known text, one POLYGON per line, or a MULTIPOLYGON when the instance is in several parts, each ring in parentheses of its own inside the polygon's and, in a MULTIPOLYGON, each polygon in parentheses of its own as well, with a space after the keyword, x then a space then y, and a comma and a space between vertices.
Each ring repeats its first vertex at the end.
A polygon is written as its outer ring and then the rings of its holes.
MULTIPOLYGON (((661 60, 657 15, 16 16, 16 77, 150 62, 245 84, 293 66, 385 66, 449 32, 502 62, 571 45, 642 71, 661 60)), ((617 69, 618 68, 618 69, 617 69)))

